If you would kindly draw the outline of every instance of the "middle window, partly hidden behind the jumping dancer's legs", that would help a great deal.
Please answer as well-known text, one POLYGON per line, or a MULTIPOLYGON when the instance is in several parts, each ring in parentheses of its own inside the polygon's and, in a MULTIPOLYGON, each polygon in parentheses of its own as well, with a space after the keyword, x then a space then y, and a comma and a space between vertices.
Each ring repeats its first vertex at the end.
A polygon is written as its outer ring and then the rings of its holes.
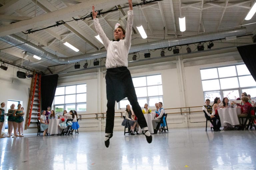
MULTIPOLYGON (((155 103, 163 102, 162 77, 159 75, 134 77, 132 78, 135 92, 140 107, 147 103, 149 106, 155 106, 155 103)), ((126 108, 130 104, 127 98, 118 103, 119 109, 126 108)))

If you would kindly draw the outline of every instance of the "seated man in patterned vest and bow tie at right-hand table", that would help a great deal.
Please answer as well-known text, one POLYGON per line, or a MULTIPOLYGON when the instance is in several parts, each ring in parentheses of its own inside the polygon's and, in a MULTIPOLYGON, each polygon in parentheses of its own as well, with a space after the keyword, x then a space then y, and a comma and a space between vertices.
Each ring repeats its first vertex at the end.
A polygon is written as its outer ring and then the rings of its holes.
POLYGON ((213 130, 220 131, 220 117, 219 115, 212 112, 212 106, 210 105, 210 100, 206 99, 205 104, 203 106, 203 111, 207 114, 208 118, 212 120, 213 130))

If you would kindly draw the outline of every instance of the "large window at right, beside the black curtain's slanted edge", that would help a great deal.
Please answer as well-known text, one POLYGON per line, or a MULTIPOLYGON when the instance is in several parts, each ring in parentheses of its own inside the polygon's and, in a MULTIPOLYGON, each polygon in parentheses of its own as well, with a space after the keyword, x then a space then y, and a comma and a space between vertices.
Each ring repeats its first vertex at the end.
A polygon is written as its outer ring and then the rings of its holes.
POLYGON ((205 99, 235 100, 243 92, 256 96, 256 82, 245 64, 201 69, 200 72, 205 99))

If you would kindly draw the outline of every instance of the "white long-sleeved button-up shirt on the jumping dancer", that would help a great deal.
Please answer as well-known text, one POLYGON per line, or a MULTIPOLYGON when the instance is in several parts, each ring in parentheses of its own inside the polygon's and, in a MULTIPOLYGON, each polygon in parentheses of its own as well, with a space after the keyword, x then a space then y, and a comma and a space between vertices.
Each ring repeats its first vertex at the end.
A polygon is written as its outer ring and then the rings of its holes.
POLYGON ((125 39, 117 41, 110 41, 104 31, 102 30, 99 19, 95 18, 94 26, 97 33, 100 36, 100 39, 103 42, 107 50, 107 59, 106 59, 106 68, 116 68, 121 66, 128 66, 128 53, 131 47, 131 38, 132 38, 132 25, 133 25, 133 10, 127 12, 127 26, 125 39))

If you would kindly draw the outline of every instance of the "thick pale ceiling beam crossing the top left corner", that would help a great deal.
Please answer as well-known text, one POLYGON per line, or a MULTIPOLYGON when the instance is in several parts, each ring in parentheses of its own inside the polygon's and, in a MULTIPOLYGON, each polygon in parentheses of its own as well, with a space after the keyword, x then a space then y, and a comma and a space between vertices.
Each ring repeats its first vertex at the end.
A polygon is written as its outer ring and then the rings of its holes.
POLYGON ((56 21, 70 18, 70 16, 78 16, 81 13, 87 13, 87 11, 91 11, 92 5, 95 5, 97 8, 110 8, 114 6, 113 4, 123 4, 126 2, 126 0, 109 0, 107 2, 102 2, 102 0, 94 0, 82 2, 67 8, 62 8, 47 14, 33 17, 29 20, 23 20, 8 26, 0 27, 0 37, 31 29, 34 27, 34 25, 55 23, 56 21))

